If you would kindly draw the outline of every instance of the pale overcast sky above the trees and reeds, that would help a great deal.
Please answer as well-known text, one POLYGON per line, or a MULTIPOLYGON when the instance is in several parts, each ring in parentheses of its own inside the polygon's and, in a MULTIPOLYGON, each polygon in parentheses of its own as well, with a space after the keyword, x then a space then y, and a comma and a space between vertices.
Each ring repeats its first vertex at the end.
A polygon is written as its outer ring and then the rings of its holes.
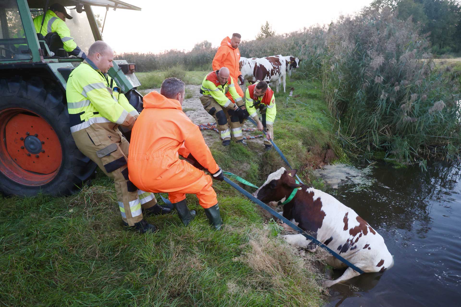
MULTIPOLYGON (((114 51, 161 52, 190 50, 195 43, 210 41, 219 46, 233 32, 253 40, 266 20, 278 34, 330 23, 340 14, 352 14, 372 0, 154 1, 124 0, 142 11, 109 9, 103 39, 114 51), (258 7, 256 7, 256 3, 258 7), (223 19, 223 18, 227 18, 223 19)), ((105 8, 93 7, 102 17, 105 8)))

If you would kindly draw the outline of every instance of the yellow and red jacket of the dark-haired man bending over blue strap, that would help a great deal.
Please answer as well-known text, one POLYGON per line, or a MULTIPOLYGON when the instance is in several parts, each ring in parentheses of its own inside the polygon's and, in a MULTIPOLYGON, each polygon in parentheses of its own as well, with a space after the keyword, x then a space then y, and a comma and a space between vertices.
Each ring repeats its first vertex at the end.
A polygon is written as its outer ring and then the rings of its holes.
POLYGON ((274 91, 272 91, 270 87, 267 87, 266 93, 264 93, 264 95, 255 98, 253 96, 253 91, 254 87, 256 87, 256 84, 258 84, 258 82, 250 85, 247 88, 247 91, 245 92, 245 106, 247 107, 248 114, 253 119, 256 119, 255 117, 257 117, 257 114, 255 106, 259 106, 260 104, 266 104, 266 124, 273 125, 275 116, 277 115, 277 110, 275 108, 274 91))

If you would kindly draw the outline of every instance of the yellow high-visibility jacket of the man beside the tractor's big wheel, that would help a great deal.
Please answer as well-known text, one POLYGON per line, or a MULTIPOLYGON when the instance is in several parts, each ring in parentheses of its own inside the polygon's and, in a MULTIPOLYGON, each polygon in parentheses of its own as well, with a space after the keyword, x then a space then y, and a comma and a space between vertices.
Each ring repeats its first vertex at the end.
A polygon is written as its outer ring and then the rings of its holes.
POLYGON ((71 72, 65 94, 71 132, 102 122, 130 127, 139 116, 125 95, 120 93, 117 83, 102 74, 89 58, 71 72), (113 90, 115 87, 118 91, 113 90))

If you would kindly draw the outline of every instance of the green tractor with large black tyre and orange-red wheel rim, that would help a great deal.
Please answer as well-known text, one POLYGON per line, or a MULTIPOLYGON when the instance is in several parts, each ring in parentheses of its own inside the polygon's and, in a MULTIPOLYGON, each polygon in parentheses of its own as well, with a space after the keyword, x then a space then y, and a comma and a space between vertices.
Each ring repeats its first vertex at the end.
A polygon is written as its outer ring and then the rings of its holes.
MULTIPOLYGON (((118 0, 52 1, 70 10, 73 18, 66 25, 84 52, 102 40, 92 6, 141 10, 118 0)), ((77 149, 66 106, 66 82, 83 60, 37 35, 32 21, 49 5, 49 0, 0 1, 0 191, 6 196, 71 195, 97 167, 77 149)), ((136 65, 113 64, 108 74, 141 112, 136 65)))

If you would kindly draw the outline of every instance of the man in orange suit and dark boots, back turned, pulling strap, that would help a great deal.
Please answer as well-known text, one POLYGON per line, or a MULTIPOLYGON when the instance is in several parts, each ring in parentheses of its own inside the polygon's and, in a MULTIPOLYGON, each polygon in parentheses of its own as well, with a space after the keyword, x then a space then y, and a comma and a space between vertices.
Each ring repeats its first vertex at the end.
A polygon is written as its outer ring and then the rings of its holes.
POLYGON ((144 110, 131 132, 128 174, 143 191, 168 192, 185 226, 196 214, 187 207, 186 193, 196 194, 208 220, 219 230, 223 222, 212 180, 199 168, 206 168, 220 181, 224 180, 223 171, 197 125, 184 114, 183 99, 184 82, 177 78, 165 79, 160 94, 154 91, 144 96, 144 110))

